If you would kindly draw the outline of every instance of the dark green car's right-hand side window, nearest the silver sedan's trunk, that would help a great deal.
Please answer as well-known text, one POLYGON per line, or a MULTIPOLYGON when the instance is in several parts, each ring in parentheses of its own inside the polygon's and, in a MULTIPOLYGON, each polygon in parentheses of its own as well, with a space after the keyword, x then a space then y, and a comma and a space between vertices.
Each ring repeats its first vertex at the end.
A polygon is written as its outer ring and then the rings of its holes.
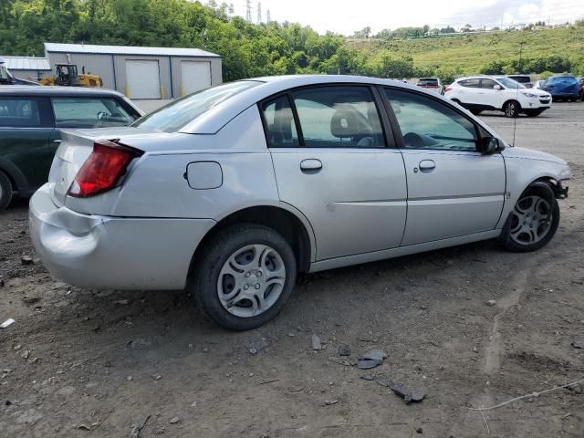
POLYGON ((116 99, 53 98, 51 103, 57 128, 107 128, 134 121, 116 99))

